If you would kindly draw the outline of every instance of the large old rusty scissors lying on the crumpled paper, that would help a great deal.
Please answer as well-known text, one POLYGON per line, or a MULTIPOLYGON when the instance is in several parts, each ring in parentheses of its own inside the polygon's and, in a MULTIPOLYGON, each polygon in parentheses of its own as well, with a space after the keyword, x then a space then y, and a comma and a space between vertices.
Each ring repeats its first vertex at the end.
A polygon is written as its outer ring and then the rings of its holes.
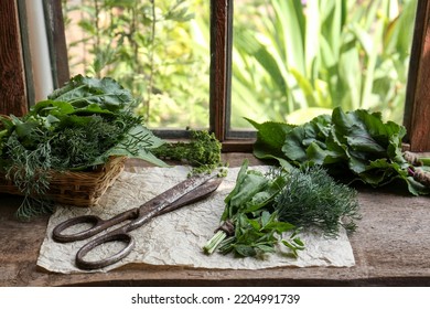
POLYGON ((83 241, 106 231, 108 227, 129 221, 127 224, 89 241, 80 247, 75 259, 76 266, 80 269, 97 269, 115 264, 129 255, 135 247, 135 239, 130 236, 130 231, 142 226, 154 216, 205 199, 218 188, 222 181, 223 178, 219 177, 217 172, 204 175, 194 175, 143 203, 141 206, 128 210, 109 220, 103 220, 97 215, 72 217, 58 224, 53 230, 53 239, 60 243, 83 241), (75 234, 64 233, 72 226, 88 223, 92 224, 92 227, 85 231, 79 231, 75 234), (100 260, 85 260, 85 256, 90 251, 109 242, 121 242, 126 244, 126 247, 100 260))

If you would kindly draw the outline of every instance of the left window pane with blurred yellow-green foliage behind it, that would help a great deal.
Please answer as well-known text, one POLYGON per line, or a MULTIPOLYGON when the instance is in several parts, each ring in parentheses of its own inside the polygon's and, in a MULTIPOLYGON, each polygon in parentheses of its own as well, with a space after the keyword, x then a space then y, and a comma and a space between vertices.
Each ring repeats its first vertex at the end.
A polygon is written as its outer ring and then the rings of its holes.
POLYGON ((150 128, 208 127, 209 1, 63 1, 71 75, 132 90, 150 128))

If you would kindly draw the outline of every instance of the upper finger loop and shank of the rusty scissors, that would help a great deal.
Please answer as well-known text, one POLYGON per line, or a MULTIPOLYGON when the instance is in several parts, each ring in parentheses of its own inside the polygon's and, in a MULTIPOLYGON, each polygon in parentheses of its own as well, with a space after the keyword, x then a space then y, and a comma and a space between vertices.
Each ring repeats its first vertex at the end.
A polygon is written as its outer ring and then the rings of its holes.
POLYGON ((86 238, 89 238, 101 231, 105 231, 106 228, 114 226, 122 221, 136 219, 139 215, 138 209, 132 209, 127 212, 120 213, 117 216, 114 216, 109 220, 103 220, 97 215, 82 215, 77 217, 72 217, 69 220, 64 221, 63 223, 60 223, 53 231, 52 231, 52 237, 54 241, 60 243, 69 243, 75 241, 83 241, 86 238), (65 234, 64 231, 68 227, 83 224, 83 223, 89 223, 93 226, 90 226, 87 230, 74 233, 74 234, 65 234))

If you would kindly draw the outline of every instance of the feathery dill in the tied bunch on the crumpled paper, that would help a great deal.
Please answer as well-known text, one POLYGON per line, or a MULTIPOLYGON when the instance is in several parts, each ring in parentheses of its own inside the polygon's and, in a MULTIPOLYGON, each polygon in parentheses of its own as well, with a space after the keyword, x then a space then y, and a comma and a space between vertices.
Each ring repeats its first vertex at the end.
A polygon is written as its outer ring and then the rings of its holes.
POLYGON ((340 226, 356 230, 359 219, 357 192, 334 181, 321 167, 292 169, 276 198, 279 219, 297 227, 319 226, 326 236, 337 236, 340 226))

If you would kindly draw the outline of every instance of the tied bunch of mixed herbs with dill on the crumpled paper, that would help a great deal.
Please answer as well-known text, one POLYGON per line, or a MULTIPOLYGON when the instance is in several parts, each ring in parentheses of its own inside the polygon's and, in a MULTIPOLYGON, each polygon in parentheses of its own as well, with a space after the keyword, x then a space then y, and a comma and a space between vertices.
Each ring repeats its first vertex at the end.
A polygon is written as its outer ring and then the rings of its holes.
POLYGON ((203 249, 260 257, 282 244, 297 257, 305 246, 300 239, 303 230, 318 227, 327 237, 337 237, 342 226, 355 231, 356 195, 320 167, 273 168, 262 173, 244 161, 225 199, 222 224, 203 249))

